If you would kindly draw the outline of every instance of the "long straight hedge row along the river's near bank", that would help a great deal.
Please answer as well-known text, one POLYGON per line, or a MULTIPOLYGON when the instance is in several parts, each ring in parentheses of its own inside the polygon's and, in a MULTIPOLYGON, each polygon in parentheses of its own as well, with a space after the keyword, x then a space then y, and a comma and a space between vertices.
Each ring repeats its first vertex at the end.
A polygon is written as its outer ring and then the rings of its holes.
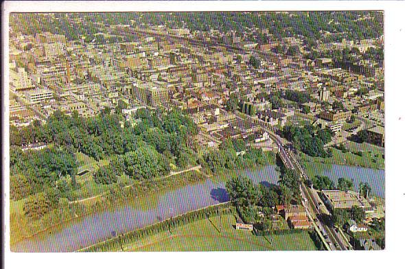
POLYGON ((123 244, 130 244, 130 242, 133 242, 142 237, 147 237, 148 235, 152 235, 154 233, 159 233, 162 231, 170 231, 170 229, 174 229, 178 226, 187 224, 189 222, 194 222, 196 220, 209 218, 214 215, 235 213, 233 207, 230 207, 230 205, 231 204, 229 202, 224 202, 222 204, 215 204, 213 206, 198 209, 196 211, 189 211, 174 218, 163 220, 163 222, 158 222, 156 224, 146 226, 142 229, 137 229, 135 231, 130 231, 128 233, 118 235, 117 237, 113 237, 104 242, 94 244, 93 246, 89 246, 87 248, 82 248, 78 251, 105 252, 116 249, 124 250, 122 248, 123 244))

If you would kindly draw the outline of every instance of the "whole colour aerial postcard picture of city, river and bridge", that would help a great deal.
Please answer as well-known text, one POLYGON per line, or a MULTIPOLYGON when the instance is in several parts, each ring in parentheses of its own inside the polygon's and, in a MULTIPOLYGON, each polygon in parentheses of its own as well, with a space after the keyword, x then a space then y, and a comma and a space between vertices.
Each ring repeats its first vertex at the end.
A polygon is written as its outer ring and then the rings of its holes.
POLYGON ((384 11, 8 27, 12 253, 385 249, 384 11))

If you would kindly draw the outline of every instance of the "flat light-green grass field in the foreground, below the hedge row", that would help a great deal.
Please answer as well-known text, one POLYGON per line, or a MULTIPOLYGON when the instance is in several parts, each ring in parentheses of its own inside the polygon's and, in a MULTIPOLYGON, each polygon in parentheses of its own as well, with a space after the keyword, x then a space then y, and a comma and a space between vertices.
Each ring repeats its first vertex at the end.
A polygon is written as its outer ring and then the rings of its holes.
MULTIPOLYGON (((172 231, 155 233, 123 245, 124 251, 241 251, 316 250, 306 232, 260 237, 250 231, 236 231, 235 217, 222 215, 198 220, 172 231)), ((112 249, 111 251, 122 251, 112 249)))

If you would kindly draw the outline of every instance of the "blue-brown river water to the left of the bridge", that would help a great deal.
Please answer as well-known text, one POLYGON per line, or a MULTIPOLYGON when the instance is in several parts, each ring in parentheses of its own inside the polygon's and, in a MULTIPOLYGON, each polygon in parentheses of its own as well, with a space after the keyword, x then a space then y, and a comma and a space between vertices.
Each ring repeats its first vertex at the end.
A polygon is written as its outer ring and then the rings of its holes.
MULTIPOLYGON (((242 174, 252 178, 253 183, 277 183, 279 178, 275 165, 254 171, 246 170, 242 174)), ((12 246, 12 251, 74 251, 166 218, 228 200, 225 183, 207 179, 172 191, 162 191, 148 198, 137 198, 117 209, 85 216, 58 231, 25 239, 12 246)))

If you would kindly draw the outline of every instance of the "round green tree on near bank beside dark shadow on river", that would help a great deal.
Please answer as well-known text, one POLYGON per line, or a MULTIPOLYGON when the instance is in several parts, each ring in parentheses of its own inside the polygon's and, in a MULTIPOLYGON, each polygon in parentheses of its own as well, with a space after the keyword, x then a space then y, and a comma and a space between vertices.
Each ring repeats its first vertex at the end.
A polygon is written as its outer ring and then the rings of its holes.
POLYGON ((230 200, 237 206, 250 207, 257 204, 259 191, 250 178, 238 176, 231 178, 226 184, 230 200))

